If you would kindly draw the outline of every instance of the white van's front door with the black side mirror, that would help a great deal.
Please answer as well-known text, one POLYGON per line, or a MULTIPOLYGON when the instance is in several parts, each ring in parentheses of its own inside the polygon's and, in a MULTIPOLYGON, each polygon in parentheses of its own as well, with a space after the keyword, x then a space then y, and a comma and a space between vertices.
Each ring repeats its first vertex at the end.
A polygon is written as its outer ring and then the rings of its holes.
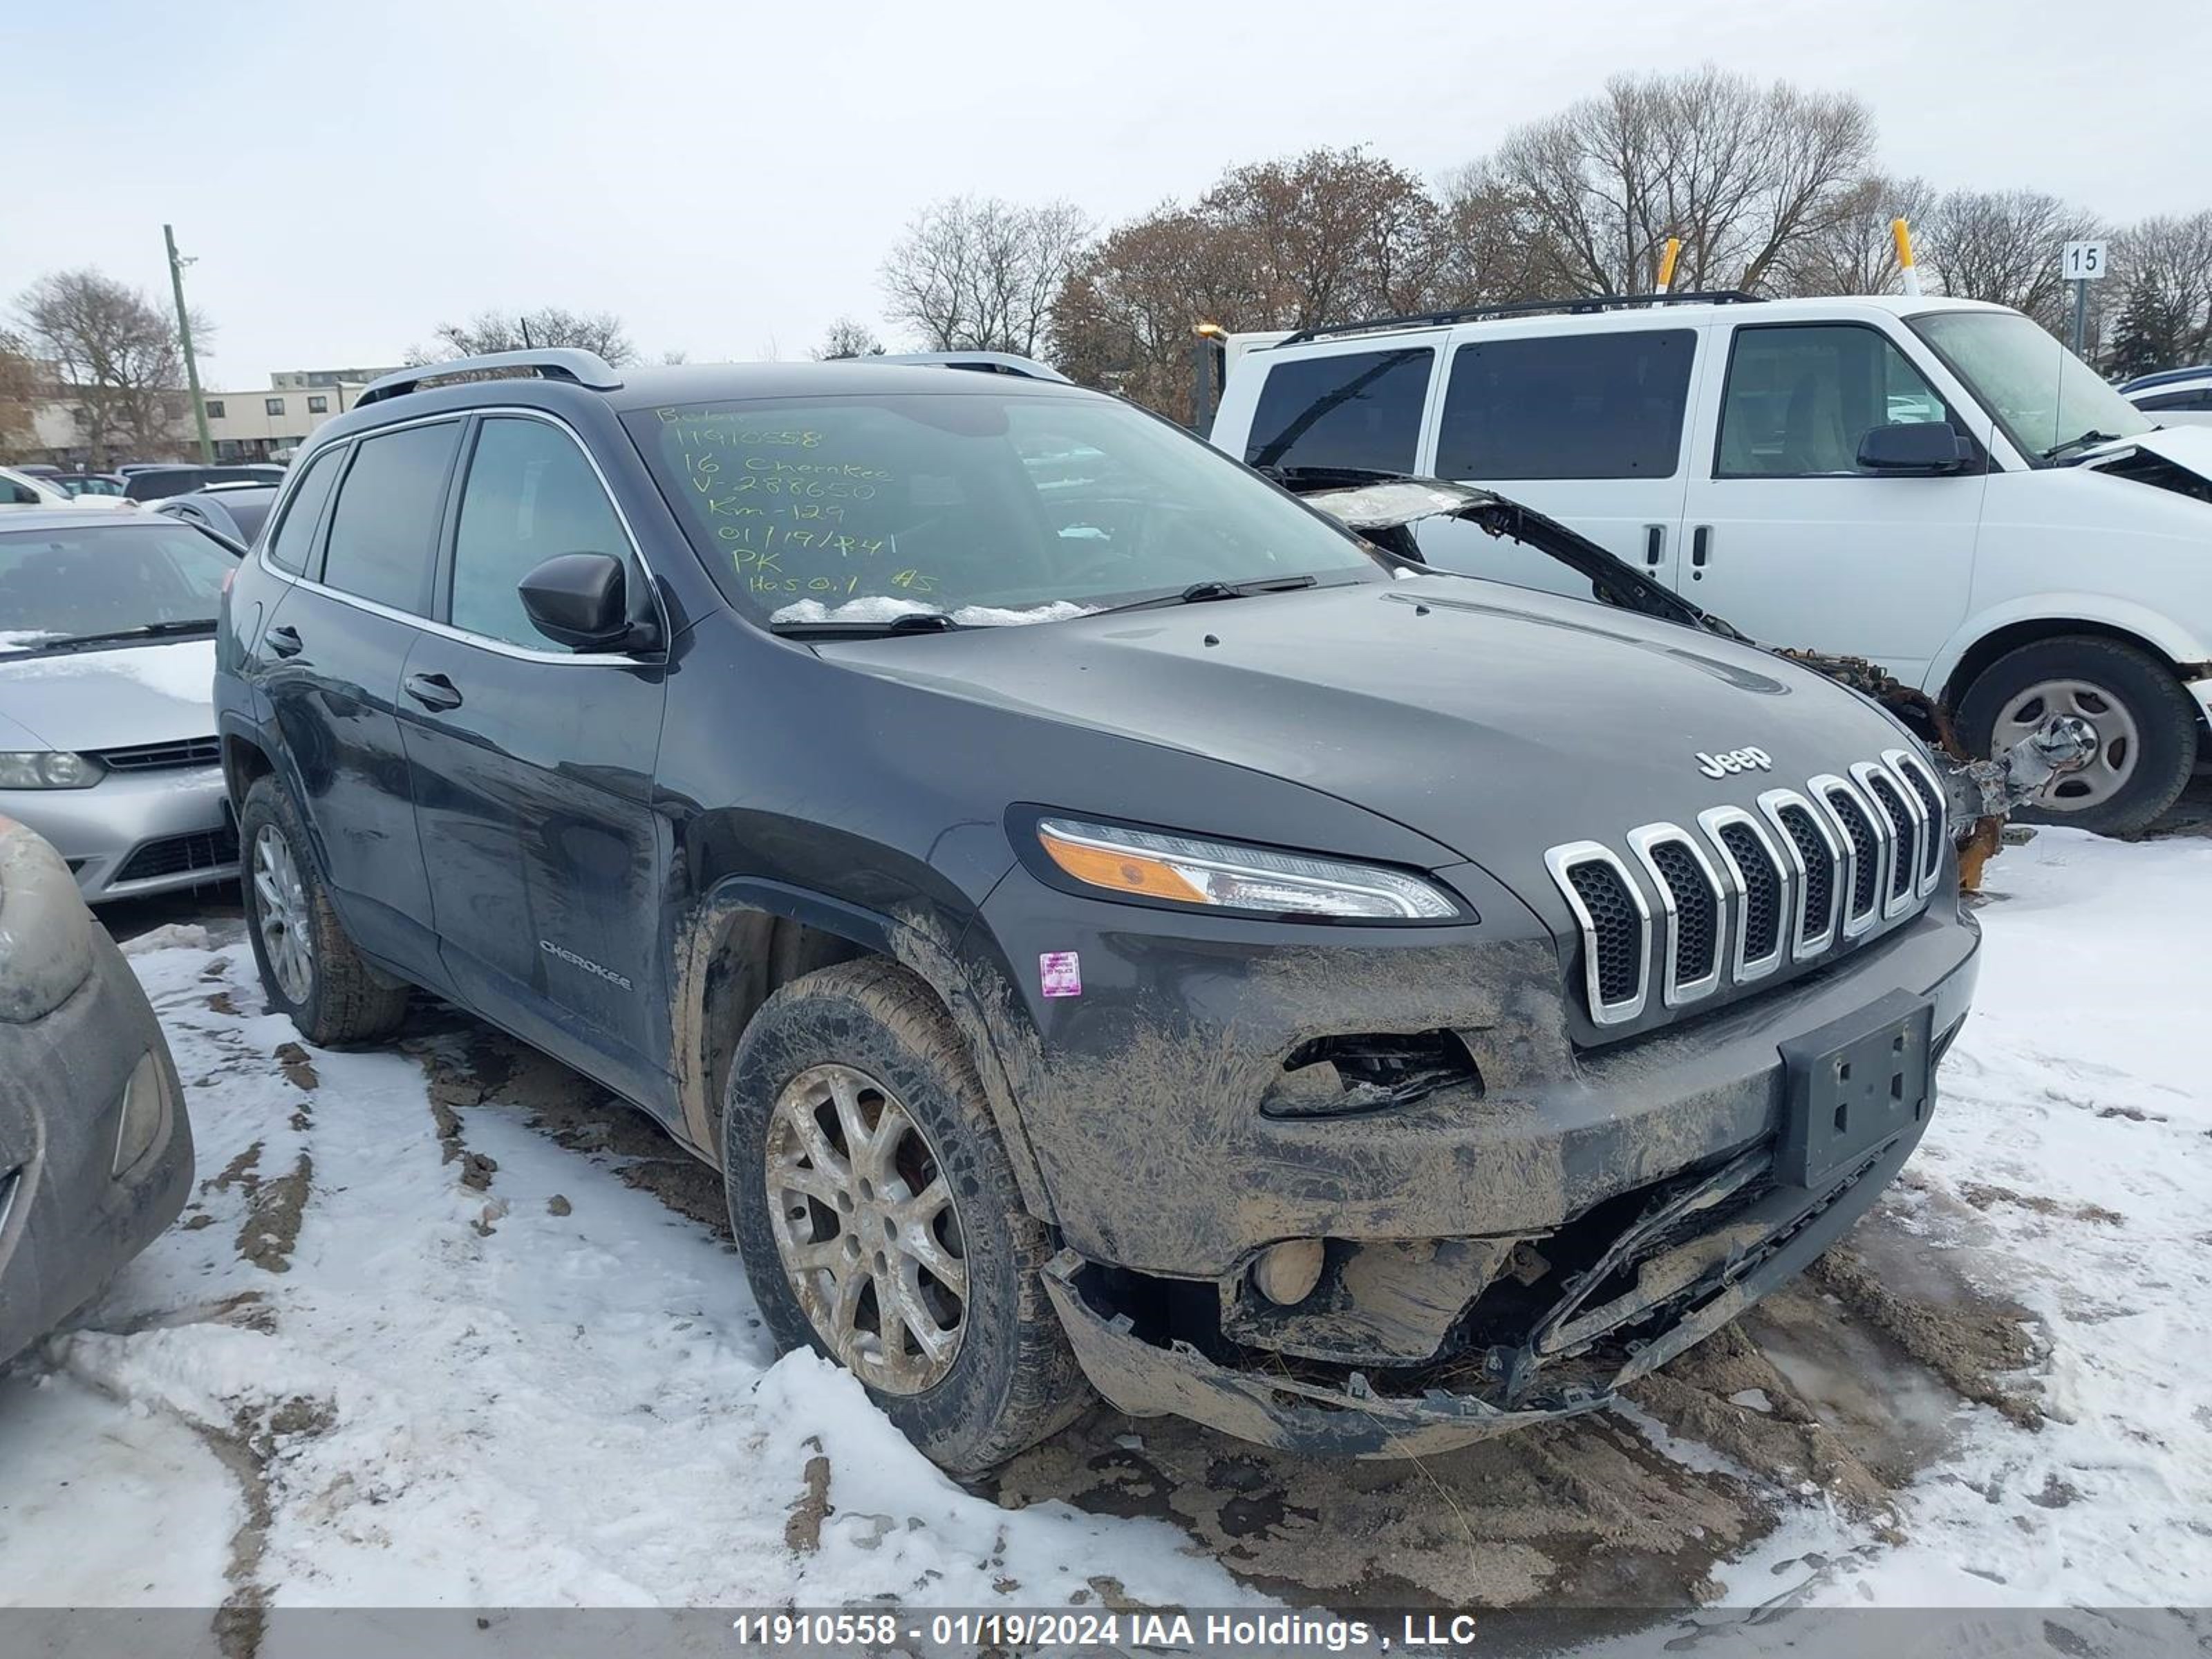
POLYGON ((1966 619, 1982 462, 1878 476, 1858 445, 1880 425, 1944 420, 1989 453, 1986 416, 1953 407, 1869 323, 1736 323, 1708 376, 1674 586, 1763 646, 1871 657, 1920 686, 1966 619))

